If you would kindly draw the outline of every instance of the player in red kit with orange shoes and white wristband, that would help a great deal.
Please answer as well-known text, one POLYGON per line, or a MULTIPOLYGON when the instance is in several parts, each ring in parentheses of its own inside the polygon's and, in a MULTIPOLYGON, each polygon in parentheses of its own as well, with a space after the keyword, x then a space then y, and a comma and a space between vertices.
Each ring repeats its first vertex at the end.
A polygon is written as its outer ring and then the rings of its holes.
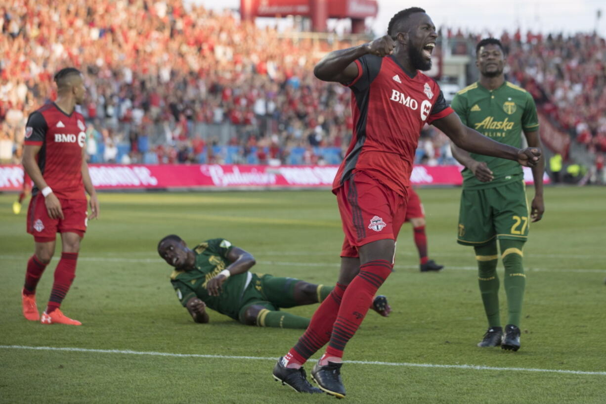
POLYGON ((75 110, 84 101, 84 79, 78 69, 66 67, 55 75, 57 99, 29 116, 25 128, 23 167, 34 187, 27 209, 27 232, 35 254, 27 262, 22 290, 23 315, 42 324, 81 325, 59 310, 76 275, 76 260, 88 219, 99 216, 99 201, 85 159, 84 117, 75 110), (84 191, 90 195, 87 213, 84 191), (61 260, 48 305, 42 317, 36 306, 36 286, 55 252, 61 233, 61 260))

